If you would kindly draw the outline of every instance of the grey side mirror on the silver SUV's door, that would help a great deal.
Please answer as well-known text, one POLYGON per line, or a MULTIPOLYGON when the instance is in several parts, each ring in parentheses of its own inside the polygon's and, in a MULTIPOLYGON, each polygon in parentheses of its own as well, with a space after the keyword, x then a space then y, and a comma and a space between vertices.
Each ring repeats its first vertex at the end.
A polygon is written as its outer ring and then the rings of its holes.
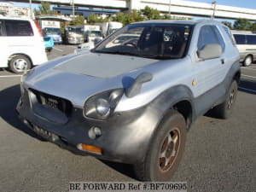
POLYGON ((197 55, 202 60, 209 60, 220 57, 222 48, 219 44, 207 44, 201 50, 197 51, 197 55))

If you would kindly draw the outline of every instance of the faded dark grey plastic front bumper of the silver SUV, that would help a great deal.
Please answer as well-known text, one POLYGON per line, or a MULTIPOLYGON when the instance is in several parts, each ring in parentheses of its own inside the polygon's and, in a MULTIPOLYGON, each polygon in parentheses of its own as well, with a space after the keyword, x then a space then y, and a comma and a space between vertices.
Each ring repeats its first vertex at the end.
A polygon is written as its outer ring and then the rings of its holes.
POLYGON ((99 159, 131 164, 142 161, 158 122, 154 108, 149 106, 114 113, 105 120, 84 118, 83 109, 73 108, 67 121, 54 122, 34 113, 28 94, 29 90, 23 91, 16 108, 20 119, 38 135, 75 154, 90 154, 99 159), (89 136, 92 127, 101 128, 100 137, 93 139, 89 136), (102 148, 102 154, 80 150, 78 146, 81 143, 102 148))

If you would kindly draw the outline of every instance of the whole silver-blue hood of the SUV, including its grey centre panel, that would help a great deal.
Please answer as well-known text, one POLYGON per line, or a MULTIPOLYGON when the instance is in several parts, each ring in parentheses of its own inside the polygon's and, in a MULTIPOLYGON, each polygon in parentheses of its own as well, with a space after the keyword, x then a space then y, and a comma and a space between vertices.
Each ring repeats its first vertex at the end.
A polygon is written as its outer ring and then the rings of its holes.
MULTIPOLYGON (((70 55, 36 67, 26 79, 26 88, 65 98, 83 108, 84 101, 104 90, 123 88, 127 77, 137 77, 142 67, 157 60, 126 55, 70 55)), ((129 81, 129 79, 128 79, 129 81)))

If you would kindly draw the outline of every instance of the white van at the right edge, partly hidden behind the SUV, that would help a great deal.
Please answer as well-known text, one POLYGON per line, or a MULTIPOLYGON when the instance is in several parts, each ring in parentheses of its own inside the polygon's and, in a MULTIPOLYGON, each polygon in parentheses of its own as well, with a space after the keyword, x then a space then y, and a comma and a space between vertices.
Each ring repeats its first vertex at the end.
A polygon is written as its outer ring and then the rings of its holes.
POLYGON ((256 61, 256 34, 247 31, 231 31, 236 39, 236 46, 240 53, 243 66, 249 66, 256 61))

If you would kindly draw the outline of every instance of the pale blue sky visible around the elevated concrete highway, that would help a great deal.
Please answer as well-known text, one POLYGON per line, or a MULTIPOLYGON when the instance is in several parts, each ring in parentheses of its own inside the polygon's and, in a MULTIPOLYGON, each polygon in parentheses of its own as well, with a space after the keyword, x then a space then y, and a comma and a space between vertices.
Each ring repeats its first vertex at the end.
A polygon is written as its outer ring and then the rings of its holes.
MULTIPOLYGON (((29 0, 27 0, 29 1, 29 0)), ((108 0, 106 0, 108 1, 108 0)), ((228 5, 234 7, 248 8, 248 9, 256 9, 256 1, 255 0, 189 0, 194 2, 201 3, 212 3, 216 1, 217 4, 228 5)), ((18 6, 28 7, 28 3, 15 3, 18 6)), ((33 8, 37 8, 38 4, 33 4, 33 8)))

